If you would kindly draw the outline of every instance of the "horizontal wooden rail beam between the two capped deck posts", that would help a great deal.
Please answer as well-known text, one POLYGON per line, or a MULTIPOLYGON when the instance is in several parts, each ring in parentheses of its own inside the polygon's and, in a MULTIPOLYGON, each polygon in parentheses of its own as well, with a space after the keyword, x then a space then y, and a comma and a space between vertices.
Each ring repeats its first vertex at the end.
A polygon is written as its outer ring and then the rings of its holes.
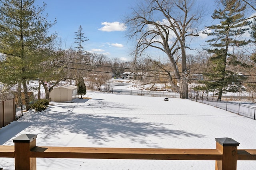
POLYGON ((34 158, 94 158, 94 159, 152 159, 152 160, 222 160, 216 149, 162 148, 82 148, 36 146, 34 158))

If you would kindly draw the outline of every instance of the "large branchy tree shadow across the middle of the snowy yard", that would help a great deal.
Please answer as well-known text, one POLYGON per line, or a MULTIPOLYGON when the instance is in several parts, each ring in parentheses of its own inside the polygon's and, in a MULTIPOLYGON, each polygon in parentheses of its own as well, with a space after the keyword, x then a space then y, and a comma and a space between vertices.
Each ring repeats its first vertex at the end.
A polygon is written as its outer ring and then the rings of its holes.
POLYGON ((74 108, 79 109, 79 107, 84 109, 85 107, 108 108, 108 113, 111 112, 111 109, 119 109, 120 114, 122 114, 122 109, 132 110, 128 106, 118 105, 117 103, 98 101, 98 103, 92 103, 91 105, 62 105, 61 107, 67 110, 66 113, 60 111, 52 113, 50 111, 52 109, 56 110, 56 108, 51 109, 51 106, 48 110, 49 112, 34 113, 40 115, 41 119, 34 119, 34 124, 30 127, 40 128, 42 134, 45 135, 44 140, 49 140, 56 134, 65 134, 64 130, 85 134, 90 141, 99 145, 104 145, 104 142, 114 140, 116 136, 128 138, 131 141, 142 144, 146 142, 145 136, 153 136, 160 139, 181 138, 182 136, 205 137, 203 134, 193 134, 185 130, 172 130, 170 125, 162 123, 143 122, 143 120, 136 117, 114 117, 74 112, 74 108))

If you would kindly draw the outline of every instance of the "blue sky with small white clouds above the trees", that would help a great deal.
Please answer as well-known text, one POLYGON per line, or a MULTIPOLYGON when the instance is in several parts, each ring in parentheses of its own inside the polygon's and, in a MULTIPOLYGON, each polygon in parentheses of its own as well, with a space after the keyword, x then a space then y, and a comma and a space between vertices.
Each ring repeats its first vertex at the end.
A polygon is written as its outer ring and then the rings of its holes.
MULTIPOLYGON (((36 0, 36 5, 46 3, 45 13, 48 21, 57 23, 49 30, 57 32, 64 42, 62 48, 75 47, 74 38, 79 26, 82 26, 84 36, 89 39, 84 43, 84 49, 89 52, 102 53, 107 57, 118 57, 130 61, 130 52, 133 42, 129 42, 125 36, 126 31, 122 20, 126 14, 130 14, 130 8, 138 0, 36 0)), ((211 14, 216 8, 214 0, 196 0, 204 3, 208 8, 208 16, 205 18, 206 26, 212 25, 211 14)), ((197 38, 192 47, 205 43, 202 37, 197 38)), ((156 52, 157 53, 157 52, 156 52)))

